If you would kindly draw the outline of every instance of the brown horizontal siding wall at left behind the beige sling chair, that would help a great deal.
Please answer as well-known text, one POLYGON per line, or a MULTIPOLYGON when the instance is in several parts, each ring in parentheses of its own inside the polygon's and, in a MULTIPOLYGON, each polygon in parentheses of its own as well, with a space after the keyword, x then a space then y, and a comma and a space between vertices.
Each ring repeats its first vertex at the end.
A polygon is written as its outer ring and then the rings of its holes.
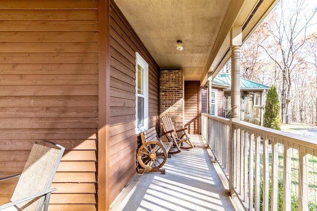
POLYGON ((1 1, 0 177, 22 170, 34 141, 65 146, 50 211, 97 209, 98 41, 98 0, 1 1))

